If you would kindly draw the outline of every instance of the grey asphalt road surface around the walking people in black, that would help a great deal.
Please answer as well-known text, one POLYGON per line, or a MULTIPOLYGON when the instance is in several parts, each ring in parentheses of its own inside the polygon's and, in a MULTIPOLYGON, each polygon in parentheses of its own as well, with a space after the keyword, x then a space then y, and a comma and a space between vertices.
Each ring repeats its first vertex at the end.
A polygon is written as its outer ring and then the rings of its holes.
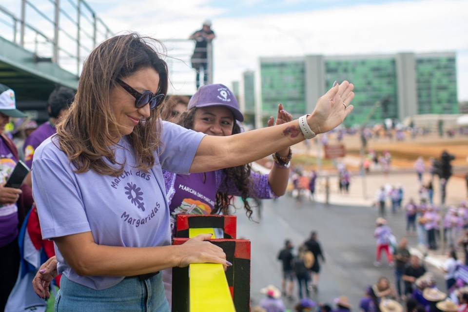
MULTIPOLYGON (((263 206, 259 223, 249 221, 243 210, 236 213, 237 236, 252 241, 251 293, 254 304, 263 298, 259 292, 262 287, 281 285, 281 266, 276 256, 284 240, 289 238, 294 246, 298 246, 312 230, 318 231, 326 256, 319 293, 312 299, 332 303, 334 298, 347 295, 353 307, 357 307, 366 287, 380 276, 389 277, 393 283, 393 269, 386 264, 379 268, 373 266, 375 240, 372 234, 376 209, 301 203, 286 196, 276 201, 265 200, 263 206)), ((388 220, 397 239, 402 237, 405 233, 404 214, 390 215, 388 220)), ((416 243, 415 237, 410 237, 409 241, 410 245, 416 243)), ((441 275, 437 274, 438 284, 445 290, 441 275)))

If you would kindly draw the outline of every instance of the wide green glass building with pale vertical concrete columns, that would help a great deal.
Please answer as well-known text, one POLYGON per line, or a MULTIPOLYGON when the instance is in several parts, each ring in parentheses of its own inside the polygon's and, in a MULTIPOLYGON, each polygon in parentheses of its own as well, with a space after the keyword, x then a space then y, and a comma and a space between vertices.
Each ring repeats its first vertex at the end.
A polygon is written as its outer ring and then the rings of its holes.
POLYGON ((295 117, 310 113, 333 81, 346 79, 356 93, 347 126, 458 113, 455 58, 454 52, 260 58, 259 111, 265 119, 283 103, 295 117))

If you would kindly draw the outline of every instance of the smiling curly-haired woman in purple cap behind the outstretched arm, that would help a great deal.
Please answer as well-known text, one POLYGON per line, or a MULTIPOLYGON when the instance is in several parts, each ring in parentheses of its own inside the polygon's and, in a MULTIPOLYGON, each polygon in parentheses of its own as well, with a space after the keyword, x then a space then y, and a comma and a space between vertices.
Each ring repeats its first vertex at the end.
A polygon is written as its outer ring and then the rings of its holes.
MULTIPOLYGON (((276 124, 292 120, 292 116, 278 105, 276 124)), ((244 121, 234 94, 222 84, 202 86, 190 99, 188 111, 179 124, 187 129, 209 136, 225 137, 241 133, 236 121, 244 121)), ((274 119, 270 118, 269 125, 274 119)), ((240 165, 189 176, 164 171, 167 200, 171 211, 171 228, 175 234, 178 214, 229 214, 231 195, 240 196, 246 214, 252 209, 247 198, 267 199, 284 195, 288 185, 291 149, 273 154, 274 166, 269 175, 251 171, 251 166, 240 165)))

